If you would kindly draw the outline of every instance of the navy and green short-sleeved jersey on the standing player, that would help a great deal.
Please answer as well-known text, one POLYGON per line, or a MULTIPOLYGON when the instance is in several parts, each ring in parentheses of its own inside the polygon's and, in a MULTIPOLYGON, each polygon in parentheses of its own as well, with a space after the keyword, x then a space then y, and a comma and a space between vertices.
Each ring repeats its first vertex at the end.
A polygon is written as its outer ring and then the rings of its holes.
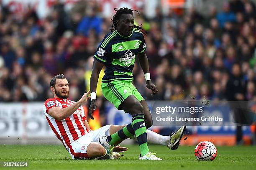
POLYGON ((121 36, 117 30, 109 33, 101 41, 94 58, 106 66, 102 82, 113 80, 133 81, 133 66, 137 53, 143 53, 146 44, 143 33, 133 28, 128 37, 121 36))

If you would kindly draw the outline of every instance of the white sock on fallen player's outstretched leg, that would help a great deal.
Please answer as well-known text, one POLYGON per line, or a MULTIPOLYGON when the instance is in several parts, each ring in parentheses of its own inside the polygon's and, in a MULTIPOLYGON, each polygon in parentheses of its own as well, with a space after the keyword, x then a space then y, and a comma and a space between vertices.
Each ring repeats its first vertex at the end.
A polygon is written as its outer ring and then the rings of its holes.
MULTIPOLYGON (((138 141, 135 135, 130 138, 138 141)), ((169 136, 162 136, 148 129, 147 129, 147 140, 148 140, 148 143, 152 143, 152 144, 158 144, 158 145, 164 145, 164 146, 170 145, 169 136)))

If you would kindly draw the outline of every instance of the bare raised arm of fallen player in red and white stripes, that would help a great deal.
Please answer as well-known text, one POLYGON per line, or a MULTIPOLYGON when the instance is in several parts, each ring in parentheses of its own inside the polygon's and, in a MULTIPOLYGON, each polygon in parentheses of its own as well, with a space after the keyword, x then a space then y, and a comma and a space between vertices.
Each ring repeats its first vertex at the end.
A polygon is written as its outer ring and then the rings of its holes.
POLYGON ((88 96, 88 94, 90 94, 90 91, 84 93, 81 99, 76 103, 72 104, 71 106, 66 107, 64 109, 61 109, 60 107, 53 107, 49 109, 48 113, 51 115, 51 117, 54 117, 56 120, 66 119, 71 114, 73 114, 82 104, 84 104, 87 101, 87 99, 91 98, 90 96, 88 96))

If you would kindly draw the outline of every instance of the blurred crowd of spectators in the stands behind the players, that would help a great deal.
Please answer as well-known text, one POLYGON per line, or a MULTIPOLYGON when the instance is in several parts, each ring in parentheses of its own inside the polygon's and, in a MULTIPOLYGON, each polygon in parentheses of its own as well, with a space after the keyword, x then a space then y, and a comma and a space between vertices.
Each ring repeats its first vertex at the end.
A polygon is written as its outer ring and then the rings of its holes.
MULTIPOLYGON (((143 5, 137 10, 159 90, 151 96, 136 62, 134 84, 146 100, 256 101, 256 6, 250 0, 223 2, 220 12, 212 6, 207 15, 193 7, 164 14, 158 7, 147 18, 143 5)), ((78 1, 69 11, 56 1, 40 19, 33 8, 17 17, 0 5, 0 101, 44 101, 60 73, 69 80, 69 99, 77 101, 89 89, 92 56, 110 32, 110 19, 97 1, 78 1)))

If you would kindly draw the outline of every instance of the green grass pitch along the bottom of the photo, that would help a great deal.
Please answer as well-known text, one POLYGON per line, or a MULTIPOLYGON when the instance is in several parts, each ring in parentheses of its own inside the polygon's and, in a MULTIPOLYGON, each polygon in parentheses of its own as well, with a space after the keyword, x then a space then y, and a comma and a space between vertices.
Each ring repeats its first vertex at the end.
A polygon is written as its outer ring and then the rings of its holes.
MULTIPOLYGON (((137 145, 126 146, 128 151, 119 160, 72 160, 62 145, 0 145, 0 161, 28 161, 19 170, 254 170, 256 147, 218 147, 214 161, 197 161, 195 146, 180 146, 172 151, 165 146, 149 145, 163 161, 138 160, 137 145)), ((17 170, 17 167, 0 169, 17 170)))

